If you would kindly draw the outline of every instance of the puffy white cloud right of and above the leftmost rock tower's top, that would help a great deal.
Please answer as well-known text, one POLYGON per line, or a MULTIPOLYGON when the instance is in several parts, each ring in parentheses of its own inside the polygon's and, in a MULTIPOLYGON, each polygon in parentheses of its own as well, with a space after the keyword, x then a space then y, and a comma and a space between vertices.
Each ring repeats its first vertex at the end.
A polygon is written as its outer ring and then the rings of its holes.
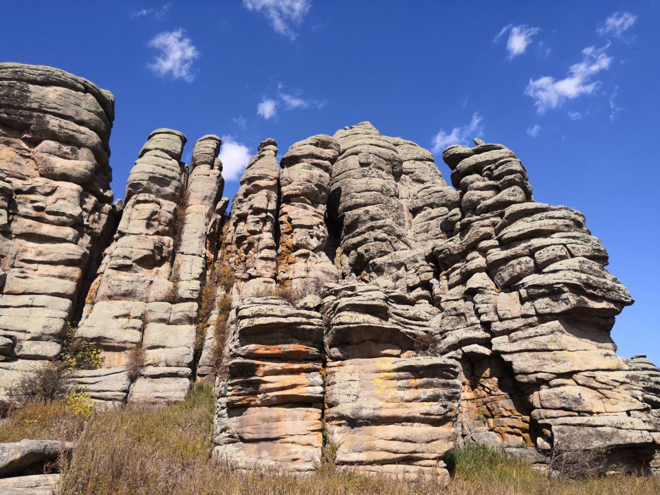
POLYGON ((149 69, 159 76, 170 74, 175 79, 192 82, 195 78, 192 74, 192 62, 199 57, 199 52, 190 38, 184 36, 184 30, 179 28, 157 34, 149 41, 149 46, 161 52, 148 64, 149 69))

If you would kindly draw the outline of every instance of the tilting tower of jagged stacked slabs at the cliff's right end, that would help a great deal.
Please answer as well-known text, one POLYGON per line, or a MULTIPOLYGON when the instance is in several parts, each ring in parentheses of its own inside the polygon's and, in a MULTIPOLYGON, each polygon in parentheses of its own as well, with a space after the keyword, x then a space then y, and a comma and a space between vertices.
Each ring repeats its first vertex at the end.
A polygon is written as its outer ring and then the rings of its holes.
POLYGON ((439 351, 511 366, 526 411, 509 426, 523 441, 526 428, 515 423, 529 420, 539 448, 635 445, 642 459, 630 463, 642 465, 660 423, 609 336, 630 294, 604 269, 607 253, 582 214, 533 202, 514 153, 475 141, 443 153, 462 219, 434 249, 448 287, 439 351))

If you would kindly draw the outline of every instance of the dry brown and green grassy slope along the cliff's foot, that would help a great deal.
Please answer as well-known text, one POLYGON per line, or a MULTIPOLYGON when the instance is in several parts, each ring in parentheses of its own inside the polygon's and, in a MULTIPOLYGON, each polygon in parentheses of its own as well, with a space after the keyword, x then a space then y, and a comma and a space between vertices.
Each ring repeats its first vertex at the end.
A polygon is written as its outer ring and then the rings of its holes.
POLYGON ((87 420, 67 415, 58 404, 31 404, 0 426, 0 440, 74 439, 82 432, 76 454, 63 466, 61 495, 660 494, 660 479, 643 476, 549 482, 529 466, 480 446, 455 452, 456 472, 448 487, 430 480, 366 478, 327 468, 298 478, 236 474, 209 461, 213 402, 210 386, 199 386, 175 406, 127 406, 87 420))

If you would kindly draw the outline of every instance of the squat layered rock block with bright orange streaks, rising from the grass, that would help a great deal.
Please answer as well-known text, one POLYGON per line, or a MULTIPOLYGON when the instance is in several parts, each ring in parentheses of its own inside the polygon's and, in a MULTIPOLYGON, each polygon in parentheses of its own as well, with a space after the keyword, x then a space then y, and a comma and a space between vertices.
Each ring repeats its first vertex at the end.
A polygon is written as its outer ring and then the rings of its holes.
POLYGON ((230 325, 214 456, 240 469, 314 470, 322 448, 320 314, 282 298, 246 298, 230 325))

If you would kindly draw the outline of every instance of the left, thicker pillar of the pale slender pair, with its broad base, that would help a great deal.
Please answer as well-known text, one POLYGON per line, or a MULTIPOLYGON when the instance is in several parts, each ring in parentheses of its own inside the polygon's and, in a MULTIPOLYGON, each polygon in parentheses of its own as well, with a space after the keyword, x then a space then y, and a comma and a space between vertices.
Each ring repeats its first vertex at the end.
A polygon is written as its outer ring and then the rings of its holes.
POLYGON ((129 175, 122 220, 87 295, 78 329, 104 351, 103 369, 80 372, 80 383, 94 399, 126 399, 130 368, 142 370, 131 400, 182 399, 188 390, 195 340, 190 320, 196 305, 177 303, 172 270, 177 223, 179 228, 183 223, 177 218, 185 218, 179 207, 187 177, 179 162, 185 142, 178 131, 153 131, 129 175), (161 362, 163 349, 176 354, 175 362, 161 362), (170 367, 177 371, 161 369, 170 367))

